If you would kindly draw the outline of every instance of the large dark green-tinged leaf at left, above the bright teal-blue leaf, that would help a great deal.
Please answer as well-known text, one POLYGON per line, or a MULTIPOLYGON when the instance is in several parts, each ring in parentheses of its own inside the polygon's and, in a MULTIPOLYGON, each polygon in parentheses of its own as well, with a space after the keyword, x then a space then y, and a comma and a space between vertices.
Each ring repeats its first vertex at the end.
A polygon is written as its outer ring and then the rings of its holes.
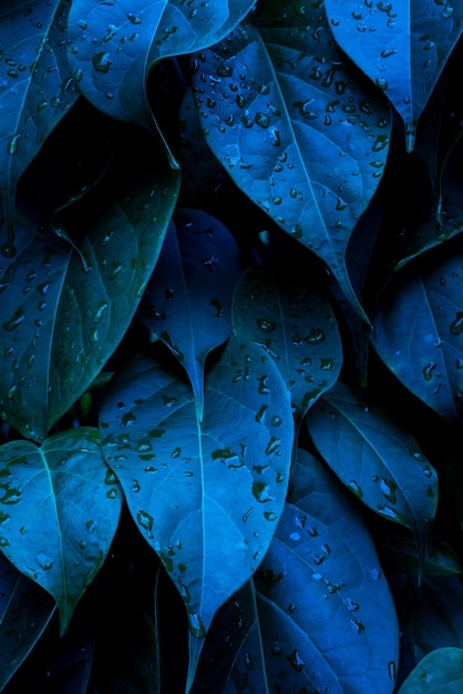
POLYGON ((91 218, 85 205, 69 213, 84 229, 79 252, 18 227, 0 275, 0 414, 27 438, 43 439, 101 371, 156 264, 178 176, 123 174, 113 171, 91 218))

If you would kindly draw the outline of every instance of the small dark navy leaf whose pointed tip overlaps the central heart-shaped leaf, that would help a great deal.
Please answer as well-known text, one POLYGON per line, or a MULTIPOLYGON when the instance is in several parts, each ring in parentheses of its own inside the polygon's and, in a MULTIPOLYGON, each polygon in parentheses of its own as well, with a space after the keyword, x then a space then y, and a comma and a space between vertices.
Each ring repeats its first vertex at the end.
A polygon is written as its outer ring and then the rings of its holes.
POLYGON ((238 246, 218 220, 178 210, 141 304, 143 323, 184 366, 203 417, 204 363, 232 334, 238 246))

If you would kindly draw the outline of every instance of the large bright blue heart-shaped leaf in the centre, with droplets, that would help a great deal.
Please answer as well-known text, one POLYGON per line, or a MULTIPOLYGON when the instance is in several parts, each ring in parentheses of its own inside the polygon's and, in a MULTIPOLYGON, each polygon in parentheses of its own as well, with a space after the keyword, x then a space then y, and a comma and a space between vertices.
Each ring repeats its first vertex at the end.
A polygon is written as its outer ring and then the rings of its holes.
POLYGON ((185 602, 191 684, 215 612, 257 569, 281 516, 289 395, 259 347, 230 338, 206 375, 203 422, 188 384, 141 357, 107 389, 100 429, 130 511, 185 602))

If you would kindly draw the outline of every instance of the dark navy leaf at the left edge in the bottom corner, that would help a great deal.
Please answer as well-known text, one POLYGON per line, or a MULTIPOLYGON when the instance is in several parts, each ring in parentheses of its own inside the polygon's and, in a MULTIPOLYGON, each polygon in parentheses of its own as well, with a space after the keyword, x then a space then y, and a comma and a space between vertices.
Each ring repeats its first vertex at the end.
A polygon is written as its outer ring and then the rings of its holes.
POLYGON ((41 589, 0 554, 0 688, 25 661, 54 614, 41 589))

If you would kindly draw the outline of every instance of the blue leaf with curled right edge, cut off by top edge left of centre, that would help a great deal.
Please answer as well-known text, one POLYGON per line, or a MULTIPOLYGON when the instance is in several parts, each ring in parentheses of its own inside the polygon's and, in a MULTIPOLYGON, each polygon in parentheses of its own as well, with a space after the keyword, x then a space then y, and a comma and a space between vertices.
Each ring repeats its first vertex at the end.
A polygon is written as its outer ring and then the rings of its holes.
POLYGON ((210 45, 254 0, 73 0, 69 62, 79 89, 113 118, 151 127, 146 79, 153 63, 210 45))

